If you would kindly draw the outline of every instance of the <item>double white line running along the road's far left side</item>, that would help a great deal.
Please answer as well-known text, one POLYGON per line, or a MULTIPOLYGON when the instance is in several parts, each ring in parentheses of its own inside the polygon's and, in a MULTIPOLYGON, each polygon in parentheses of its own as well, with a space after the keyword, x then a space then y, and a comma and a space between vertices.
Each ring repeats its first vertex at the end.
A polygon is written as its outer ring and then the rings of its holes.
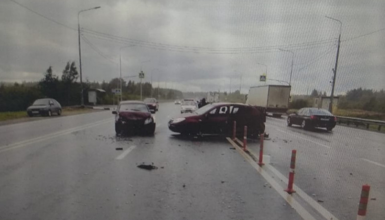
POLYGON ((59 137, 59 136, 62 136, 62 135, 65 135, 65 134, 69 134, 69 133, 72 133, 72 132, 77 132, 77 131, 81 131, 81 130, 84 130, 84 129, 88 129, 88 128, 91 128, 91 127, 94 127, 94 126, 98 126, 98 125, 101 125, 101 124, 104 124, 104 123, 107 123, 107 122, 111 122, 111 121, 112 121, 112 119, 100 120, 100 121, 97 121, 97 122, 93 122, 93 123, 90 123, 90 124, 78 126, 78 127, 75 127, 75 128, 71 128, 71 129, 67 129, 67 130, 63 130, 63 131, 59 131, 59 132, 53 132, 53 133, 49 133, 49 134, 46 134, 46 135, 43 135, 43 136, 40 136, 40 137, 35 137, 35 138, 32 138, 32 139, 24 140, 24 141, 17 142, 17 143, 14 143, 14 144, 9 144, 9 145, 5 145, 5 146, 1 146, 0 147, 0 153, 5 152, 5 151, 9 151, 9 150, 13 150, 13 149, 17 149, 17 148, 21 148, 21 147, 24 147, 24 146, 27 146, 27 145, 30 145, 30 144, 33 144, 33 143, 37 143, 37 142, 40 142, 40 141, 48 140, 48 139, 51 139, 51 138, 59 137))

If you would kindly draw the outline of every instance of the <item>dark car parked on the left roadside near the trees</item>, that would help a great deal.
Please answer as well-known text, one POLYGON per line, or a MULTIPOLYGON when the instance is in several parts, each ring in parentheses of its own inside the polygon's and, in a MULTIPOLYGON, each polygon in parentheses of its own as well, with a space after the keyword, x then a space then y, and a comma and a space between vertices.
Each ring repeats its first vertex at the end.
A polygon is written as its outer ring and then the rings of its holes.
POLYGON ((29 117, 34 115, 51 116, 53 113, 61 115, 62 106, 58 101, 51 98, 37 99, 30 107, 27 108, 27 114, 29 117))

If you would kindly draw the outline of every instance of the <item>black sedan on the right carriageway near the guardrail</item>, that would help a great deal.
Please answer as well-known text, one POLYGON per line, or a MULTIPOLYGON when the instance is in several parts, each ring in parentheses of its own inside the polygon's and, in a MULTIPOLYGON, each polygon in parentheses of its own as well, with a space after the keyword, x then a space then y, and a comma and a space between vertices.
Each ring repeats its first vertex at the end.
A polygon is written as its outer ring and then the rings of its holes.
POLYGON ((332 131, 336 127, 337 117, 328 110, 317 108, 303 108, 287 118, 287 125, 300 125, 303 129, 326 128, 332 131))

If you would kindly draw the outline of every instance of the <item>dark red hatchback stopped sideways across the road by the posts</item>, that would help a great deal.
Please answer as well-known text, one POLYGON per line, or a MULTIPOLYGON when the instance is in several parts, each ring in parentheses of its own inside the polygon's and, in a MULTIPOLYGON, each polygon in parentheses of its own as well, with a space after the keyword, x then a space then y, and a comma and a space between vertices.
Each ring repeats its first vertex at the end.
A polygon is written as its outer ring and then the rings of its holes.
POLYGON ((234 103, 212 103, 192 113, 173 117, 168 128, 181 134, 231 135, 234 121, 238 135, 243 135, 244 126, 248 126, 250 136, 265 132, 265 114, 252 106, 234 103))

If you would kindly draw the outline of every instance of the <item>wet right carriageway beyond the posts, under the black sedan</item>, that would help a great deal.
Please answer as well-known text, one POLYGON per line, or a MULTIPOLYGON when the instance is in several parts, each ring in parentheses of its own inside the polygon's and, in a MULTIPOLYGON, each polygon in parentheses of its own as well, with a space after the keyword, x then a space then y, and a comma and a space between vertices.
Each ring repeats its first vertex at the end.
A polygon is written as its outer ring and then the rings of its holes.
MULTIPOLYGON (((291 151, 297 150, 294 183, 340 220, 355 219, 362 184, 371 185, 367 218, 384 219, 385 136, 337 126, 333 132, 287 127, 284 119, 268 118, 264 154, 272 166, 288 176, 291 151), (315 196, 313 196, 315 195, 315 196)), ((259 142, 249 143, 253 152, 259 142)))

